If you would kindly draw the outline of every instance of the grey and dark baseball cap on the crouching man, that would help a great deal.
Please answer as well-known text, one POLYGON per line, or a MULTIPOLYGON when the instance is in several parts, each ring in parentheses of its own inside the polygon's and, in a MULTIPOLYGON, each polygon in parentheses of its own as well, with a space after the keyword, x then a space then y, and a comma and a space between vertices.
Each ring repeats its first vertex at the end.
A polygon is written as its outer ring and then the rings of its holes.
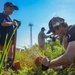
POLYGON ((49 30, 47 32, 47 34, 51 33, 53 31, 53 29, 56 26, 59 26, 61 23, 64 23, 64 19, 61 17, 53 17, 50 21, 49 21, 49 30))

